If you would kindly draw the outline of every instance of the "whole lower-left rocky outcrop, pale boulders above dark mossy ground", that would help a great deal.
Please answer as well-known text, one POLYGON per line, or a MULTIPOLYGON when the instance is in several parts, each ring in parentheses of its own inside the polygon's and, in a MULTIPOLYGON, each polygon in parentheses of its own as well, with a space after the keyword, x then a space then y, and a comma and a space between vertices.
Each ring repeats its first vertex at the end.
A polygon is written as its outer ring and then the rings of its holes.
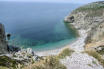
MULTIPOLYGON (((22 67, 33 64, 43 60, 43 57, 35 55, 32 49, 22 49, 12 54, 0 55, 0 66, 7 67, 7 69, 22 69, 22 67)), ((4 68, 0 68, 4 69, 4 68)))

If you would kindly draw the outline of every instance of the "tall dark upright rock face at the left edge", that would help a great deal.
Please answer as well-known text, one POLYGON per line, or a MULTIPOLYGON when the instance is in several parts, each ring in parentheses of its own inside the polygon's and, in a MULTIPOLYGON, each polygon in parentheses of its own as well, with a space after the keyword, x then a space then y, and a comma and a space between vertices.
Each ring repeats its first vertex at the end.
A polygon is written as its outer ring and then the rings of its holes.
POLYGON ((0 23, 0 54, 7 53, 7 42, 4 25, 0 23))

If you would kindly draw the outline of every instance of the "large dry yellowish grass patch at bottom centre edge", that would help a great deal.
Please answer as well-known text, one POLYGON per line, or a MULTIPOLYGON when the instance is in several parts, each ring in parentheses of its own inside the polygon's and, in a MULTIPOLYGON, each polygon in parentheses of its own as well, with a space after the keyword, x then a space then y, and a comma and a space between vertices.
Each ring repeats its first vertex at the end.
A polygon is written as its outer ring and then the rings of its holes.
POLYGON ((23 69, 66 69, 66 67, 60 63, 56 56, 48 56, 46 59, 37 61, 23 69))

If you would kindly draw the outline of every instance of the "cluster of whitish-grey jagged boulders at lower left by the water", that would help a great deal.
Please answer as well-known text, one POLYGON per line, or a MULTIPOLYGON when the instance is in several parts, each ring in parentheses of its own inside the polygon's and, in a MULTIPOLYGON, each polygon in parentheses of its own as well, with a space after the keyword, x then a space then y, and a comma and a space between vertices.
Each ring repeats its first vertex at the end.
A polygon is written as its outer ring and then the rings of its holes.
POLYGON ((34 51, 32 51, 31 48, 21 49, 20 51, 14 53, 13 56, 14 56, 14 59, 27 60, 27 62, 31 60, 34 60, 34 61, 39 60, 38 56, 34 53, 34 51))

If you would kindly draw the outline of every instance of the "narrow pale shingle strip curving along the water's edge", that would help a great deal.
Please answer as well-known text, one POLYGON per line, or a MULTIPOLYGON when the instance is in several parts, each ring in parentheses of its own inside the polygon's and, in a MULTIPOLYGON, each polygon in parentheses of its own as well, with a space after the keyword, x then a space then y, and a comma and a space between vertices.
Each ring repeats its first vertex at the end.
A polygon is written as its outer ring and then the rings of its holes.
MULTIPOLYGON (((74 26, 75 27, 75 26, 74 26)), ((77 30, 79 33, 79 37, 73 41, 72 43, 63 46, 62 48, 55 49, 55 50, 47 50, 47 51, 41 51, 41 52, 35 52, 36 55, 39 56, 49 56, 49 55, 57 55, 60 53, 65 48, 71 48, 75 51, 81 52, 84 50, 84 45, 85 45, 85 38, 87 37, 87 31, 86 30, 77 30)))

